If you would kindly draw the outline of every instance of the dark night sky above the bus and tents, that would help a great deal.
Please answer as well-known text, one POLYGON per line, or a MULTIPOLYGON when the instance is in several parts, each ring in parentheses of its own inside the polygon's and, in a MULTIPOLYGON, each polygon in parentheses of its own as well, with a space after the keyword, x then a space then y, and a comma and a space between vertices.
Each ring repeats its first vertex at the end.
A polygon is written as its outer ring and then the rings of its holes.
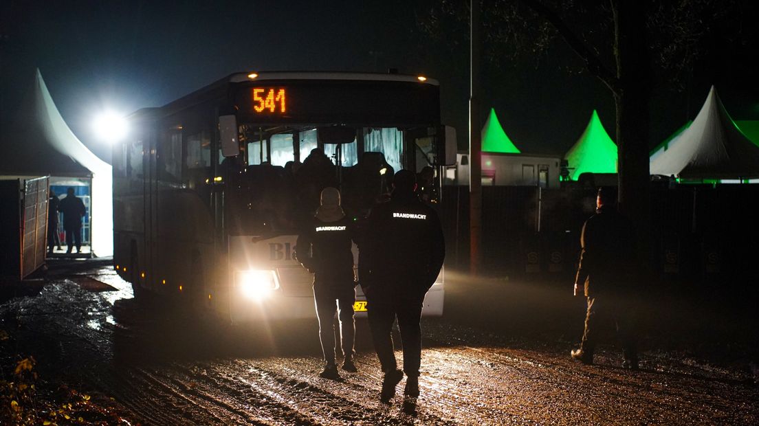
MULTIPOLYGON (((245 70, 354 70, 425 74, 440 80, 442 117, 466 145, 468 52, 433 44, 415 2, 0 2, 5 120, 39 67, 58 109, 97 155, 93 117, 164 105, 245 70)), ((454 34, 455 36, 455 34, 454 34)), ((745 52, 715 47, 685 92, 657 87, 650 145, 693 118, 716 83, 736 119, 759 120, 759 91, 745 52)), ((483 108, 495 106, 522 152, 562 155, 596 108, 613 135, 614 103, 594 77, 568 73, 577 59, 556 40, 538 60, 485 61, 483 108), (537 64, 537 66, 536 66, 537 64)), ((483 111, 484 112, 484 111, 483 111)))

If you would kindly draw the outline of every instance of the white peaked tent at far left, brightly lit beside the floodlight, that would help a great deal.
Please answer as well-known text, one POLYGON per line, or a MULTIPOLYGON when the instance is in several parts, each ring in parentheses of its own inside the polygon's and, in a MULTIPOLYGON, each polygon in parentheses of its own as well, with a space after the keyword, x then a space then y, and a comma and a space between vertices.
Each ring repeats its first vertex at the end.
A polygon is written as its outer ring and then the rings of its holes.
POLYGON ((92 251, 112 255, 112 168, 71 132, 39 70, 11 130, 0 136, 0 174, 92 178, 92 251))

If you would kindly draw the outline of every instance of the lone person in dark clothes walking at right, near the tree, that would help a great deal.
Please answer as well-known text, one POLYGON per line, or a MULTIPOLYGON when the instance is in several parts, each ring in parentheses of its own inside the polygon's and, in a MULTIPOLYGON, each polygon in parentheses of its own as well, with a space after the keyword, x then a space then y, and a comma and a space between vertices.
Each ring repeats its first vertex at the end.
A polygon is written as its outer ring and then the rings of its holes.
POLYGON ((579 349, 572 350, 572 358, 593 364, 598 331, 613 324, 622 341, 622 366, 637 370, 638 351, 629 306, 635 275, 635 228, 617 211, 616 191, 600 189, 596 205, 597 213, 585 221, 580 237, 582 252, 575 296, 583 293, 587 297, 587 313, 582 343, 579 349))

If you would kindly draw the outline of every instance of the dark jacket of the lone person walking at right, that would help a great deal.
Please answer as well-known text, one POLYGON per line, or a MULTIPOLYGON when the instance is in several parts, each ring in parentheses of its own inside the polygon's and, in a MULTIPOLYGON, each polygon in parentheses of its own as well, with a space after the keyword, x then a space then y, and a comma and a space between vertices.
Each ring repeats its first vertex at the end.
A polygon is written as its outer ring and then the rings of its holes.
POLYGON ((601 206, 585 221, 580 243, 575 283, 584 284, 585 296, 629 290, 635 274, 635 228, 628 218, 616 208, 601 206))

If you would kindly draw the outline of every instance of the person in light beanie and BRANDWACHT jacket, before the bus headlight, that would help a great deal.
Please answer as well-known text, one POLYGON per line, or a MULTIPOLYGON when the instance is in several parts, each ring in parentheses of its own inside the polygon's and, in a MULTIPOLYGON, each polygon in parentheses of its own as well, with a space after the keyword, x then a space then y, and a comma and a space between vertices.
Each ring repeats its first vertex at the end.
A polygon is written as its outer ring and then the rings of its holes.
POLYGON ((325 188, 321 193, 321 205, 317 214, 298 236, 295 257, 304 268, 313 272, 313 299, 317 307, 319 338, 325 364, 320 376, 333 380, 340 378, 335 365, 335 301, 345 357, 342 369, 356 372, 353 362, 356 333, 353 312, 356 282, 351 252, 353 240, 353 224, 340 206, 340 191, 332 187, 325 188))

